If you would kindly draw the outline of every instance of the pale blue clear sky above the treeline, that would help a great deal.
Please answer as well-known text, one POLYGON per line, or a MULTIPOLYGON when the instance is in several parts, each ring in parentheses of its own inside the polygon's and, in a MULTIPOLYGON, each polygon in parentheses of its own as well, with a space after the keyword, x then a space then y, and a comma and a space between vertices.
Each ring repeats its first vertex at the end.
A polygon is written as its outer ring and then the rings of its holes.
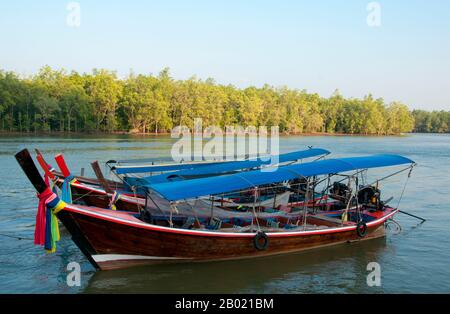
POLYGON ((0 68, 125 76, 167 66, 177 79, 450 110, 450 1, 378 1, 380 27, 367 25, 362 0, 80 0, 80 27, 66 23, 69 2, 0 3, 0 68))

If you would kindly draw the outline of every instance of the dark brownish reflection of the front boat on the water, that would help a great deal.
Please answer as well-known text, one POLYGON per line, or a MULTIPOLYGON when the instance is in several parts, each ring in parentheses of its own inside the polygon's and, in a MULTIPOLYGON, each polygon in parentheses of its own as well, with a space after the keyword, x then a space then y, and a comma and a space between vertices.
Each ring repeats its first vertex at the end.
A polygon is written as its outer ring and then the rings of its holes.
MULTIPOLYGON (((239 261, 160 264, 95 272, 83 293, 361 293, 386 238, 239 261)), ((383 267, 383 266, 381 266, 383 267)))

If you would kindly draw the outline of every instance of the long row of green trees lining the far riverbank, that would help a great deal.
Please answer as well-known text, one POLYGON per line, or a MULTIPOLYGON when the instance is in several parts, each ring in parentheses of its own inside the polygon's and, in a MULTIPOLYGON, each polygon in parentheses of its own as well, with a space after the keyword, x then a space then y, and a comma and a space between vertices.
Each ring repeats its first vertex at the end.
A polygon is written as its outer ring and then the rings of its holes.
POLYGON ((168 132, 174 126, 279 126, 284 133, 448 132, 448 112, 410 112, 371 95, 329 98, 305 90, 236 88, 212 79, 94 69, 79 74, 43 67, 31 77, 0 71, 0 130, 7 132, 168 132), (415 121, 415 123, 414 123, 415 121))

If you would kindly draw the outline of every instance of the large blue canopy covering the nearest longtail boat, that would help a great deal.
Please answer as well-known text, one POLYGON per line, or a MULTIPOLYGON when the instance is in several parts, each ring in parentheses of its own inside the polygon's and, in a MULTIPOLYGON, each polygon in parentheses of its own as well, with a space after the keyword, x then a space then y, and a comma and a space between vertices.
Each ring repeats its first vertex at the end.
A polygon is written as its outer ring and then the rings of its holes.
POLYGON ((388 167, 413 163, 414 161, 411 159, 398 155, 373 155, 367 157, 339 158, 282 166, 271 172, 254 170, 218 177, 153 184, 148 185, 147 187, 158 192, 169 201, 177 201, 199 196, 239 191, 259 185, 293 180, 299 177, 311 177, 358 169, 388 167))

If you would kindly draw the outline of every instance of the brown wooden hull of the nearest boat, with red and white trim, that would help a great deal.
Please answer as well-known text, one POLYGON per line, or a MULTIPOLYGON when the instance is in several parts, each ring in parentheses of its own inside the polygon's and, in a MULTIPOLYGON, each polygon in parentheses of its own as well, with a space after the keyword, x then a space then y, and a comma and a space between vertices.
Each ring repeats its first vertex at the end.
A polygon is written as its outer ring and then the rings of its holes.
POLYGON ((74 242, 99 269, 117 269, 161 262, 198 262, 262 257, 368 240, 385 235, 389 213, 367 223, 361 238, 356 226, 268 233, 269 246, 259 251, 254 233, 174 229, 144 223, 131 213, 67 206, 58 218, 74 242))

